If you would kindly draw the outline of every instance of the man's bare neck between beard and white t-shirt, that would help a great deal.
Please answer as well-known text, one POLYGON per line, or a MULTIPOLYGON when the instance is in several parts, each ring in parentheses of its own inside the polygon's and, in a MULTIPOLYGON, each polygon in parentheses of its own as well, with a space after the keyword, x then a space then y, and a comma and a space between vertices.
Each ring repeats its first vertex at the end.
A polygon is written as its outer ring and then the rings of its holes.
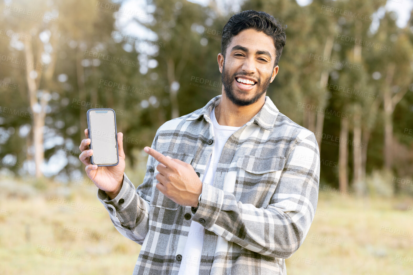
POLYGON ((241 127, 256 115, 265 103, 265 94, 255 103, 238 106, 232 103, 222 91, 221 101, 215 106, 215 118, 219 125, 241 127))

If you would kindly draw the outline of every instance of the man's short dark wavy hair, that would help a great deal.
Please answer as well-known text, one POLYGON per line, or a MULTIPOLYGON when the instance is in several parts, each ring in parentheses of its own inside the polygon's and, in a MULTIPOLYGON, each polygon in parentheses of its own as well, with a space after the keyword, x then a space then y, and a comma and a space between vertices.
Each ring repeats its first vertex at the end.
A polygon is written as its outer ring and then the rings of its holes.
POLYGON ((278 21, 278 19, 275 19, 274 16, 266 12, 257 12, 255 10, 238 12, 237 14, 231 16, 230 20, 228 20, 227 24, 225 24, 222 29, 221 40, 221 54, 224 56, 224 59, 231 39, 240 31, 249 28, 263 32, 273 38, 276 54, 274 67, 277 66, 282 49, 285 45, 285 28, 287 28, 287 26, 282 26, 282 24, 278 21))

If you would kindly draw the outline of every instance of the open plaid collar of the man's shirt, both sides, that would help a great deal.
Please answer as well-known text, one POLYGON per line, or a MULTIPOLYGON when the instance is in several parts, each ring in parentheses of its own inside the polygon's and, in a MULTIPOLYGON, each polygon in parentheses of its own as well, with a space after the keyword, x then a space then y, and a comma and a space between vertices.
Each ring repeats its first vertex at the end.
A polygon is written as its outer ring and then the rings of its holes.
MULTIPOLYGON (((211 99, 207 105, 203 108, 196 110, 192 115, 186 120, 196 120, 202 115, 207 122, 211 122, 210 114, 212 109, 219 104, 221 101, 221 94, 215 96, 211 99)), ((280 111, 275 107, 273 101, 271 101, 269 96, 265 96, 265 103, 262 106, 261 110, 246 124, 250 125, 253 122, 256 122, 261 128, 272 131, 274 128, 275 120, 280 111)))

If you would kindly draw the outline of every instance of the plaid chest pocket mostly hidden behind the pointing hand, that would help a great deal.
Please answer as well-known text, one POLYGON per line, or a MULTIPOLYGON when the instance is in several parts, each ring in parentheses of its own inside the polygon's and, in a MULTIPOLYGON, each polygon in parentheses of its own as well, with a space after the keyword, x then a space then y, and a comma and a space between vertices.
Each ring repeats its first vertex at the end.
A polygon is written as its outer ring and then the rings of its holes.
MULTIPOLYGON (((189 154, 189 153, 176 153, 176 152, 168 152, 168 151, 164 151, 161 153, 165 156, 170 156, 172 158, 182 160, 183 162, 186 162, 189 164, 192 163, 192 159, 194 158, 194 155, 189 154)), ((155 163, 155 168, 158 164, 159 162, 155 163)), ((167 209, 167 210, 177 210, 179 207, 179 204, 171 200, 169 197, 165 197, 165 195, 156 188, 156 184, 158 183, 158 180, 156 179, 155 176, 157 173, 158 172, 156 171, 156 173, 154 174, 154 178, 153 178, 153 183, 152 183, 153 197, 152 197, 150 206, 160 207, 160 208, 167 209)))

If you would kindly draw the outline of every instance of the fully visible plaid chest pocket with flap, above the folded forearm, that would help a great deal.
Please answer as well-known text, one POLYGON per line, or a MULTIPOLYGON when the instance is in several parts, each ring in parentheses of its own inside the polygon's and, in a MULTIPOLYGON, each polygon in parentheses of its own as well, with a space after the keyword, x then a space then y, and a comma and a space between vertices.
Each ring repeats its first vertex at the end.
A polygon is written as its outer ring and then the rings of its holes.
POLYGON ((236 166, 234 195, 242 203, 255 207, 266 207, 278 185, 285 157, 267 158, 244 155, 238 158, 236 166))

